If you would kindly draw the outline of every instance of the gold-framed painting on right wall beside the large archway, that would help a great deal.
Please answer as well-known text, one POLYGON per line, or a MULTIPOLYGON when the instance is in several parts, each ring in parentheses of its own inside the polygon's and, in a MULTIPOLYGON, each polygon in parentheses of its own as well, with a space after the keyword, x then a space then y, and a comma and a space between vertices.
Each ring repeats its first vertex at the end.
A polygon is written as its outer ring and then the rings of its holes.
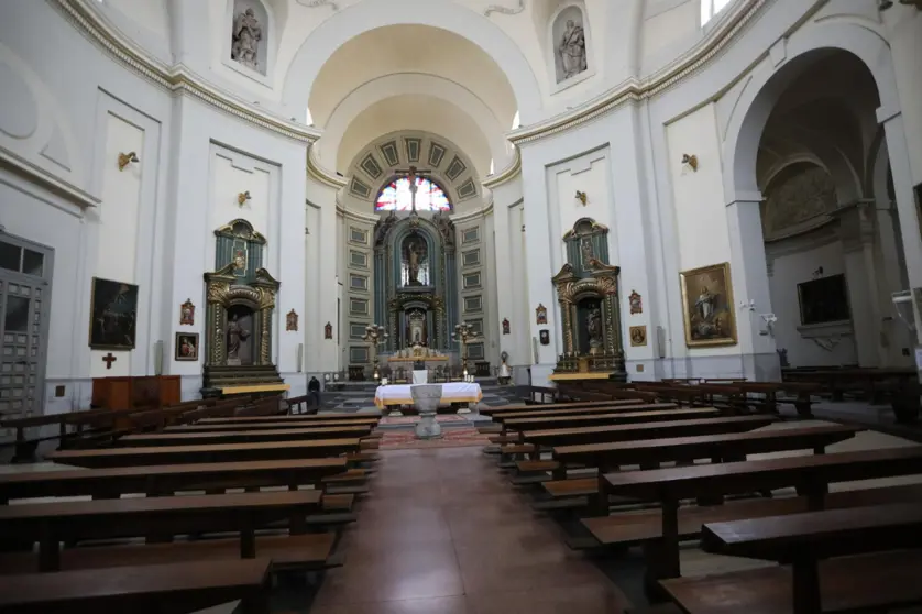
POLYGON ((682 315, 689 348, 733 346, 736 319, 729 263, 713 264, 679 273, 682 285, 682 315))

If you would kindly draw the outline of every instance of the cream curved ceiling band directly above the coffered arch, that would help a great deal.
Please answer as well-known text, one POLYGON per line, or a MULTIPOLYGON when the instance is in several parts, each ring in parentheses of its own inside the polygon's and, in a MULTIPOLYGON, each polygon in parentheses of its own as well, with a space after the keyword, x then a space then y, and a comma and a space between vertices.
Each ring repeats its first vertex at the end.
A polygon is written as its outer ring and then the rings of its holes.
MULTIPOLYGON (((337 171, 344 173, 369 143, 386 134, 407 130, 448 139, 464 152, 478 177, 489 173, 490 144, 474 120, 455 105, 429 96, 413 95, 386 98, 362 111, 342 134, 336 161, 337 171)), ((322 139, 318 145, 322 146, 322 139)))

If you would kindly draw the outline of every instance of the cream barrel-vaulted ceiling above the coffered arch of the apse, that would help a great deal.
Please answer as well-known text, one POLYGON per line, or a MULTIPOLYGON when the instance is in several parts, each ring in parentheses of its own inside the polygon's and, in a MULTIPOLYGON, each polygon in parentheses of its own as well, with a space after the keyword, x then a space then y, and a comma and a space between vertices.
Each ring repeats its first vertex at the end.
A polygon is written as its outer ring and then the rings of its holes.
POLYGON ((505 74, 482 48, 427 25, 389 25, 341 45, 311 87, 309 109, 323 129, 318 156, 347 174, 355 156, 384 134, 417 130, 457 143, 478 182, 491 161, 504 168, 504 134, 517 105, 505 74))

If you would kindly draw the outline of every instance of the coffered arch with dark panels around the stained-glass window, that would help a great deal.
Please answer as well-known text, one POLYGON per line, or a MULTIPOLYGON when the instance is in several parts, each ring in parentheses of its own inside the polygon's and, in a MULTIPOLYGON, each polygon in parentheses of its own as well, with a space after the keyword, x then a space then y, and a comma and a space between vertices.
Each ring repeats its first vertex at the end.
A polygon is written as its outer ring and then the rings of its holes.
POLYGON ((480 179, 470 157, 443 135, 418 130, 385 134, 362 147, 349 165, 347 189, 359 207, 373 211, 381 189, 409 166, 427 171, 454 212, 480 207, 480 179))

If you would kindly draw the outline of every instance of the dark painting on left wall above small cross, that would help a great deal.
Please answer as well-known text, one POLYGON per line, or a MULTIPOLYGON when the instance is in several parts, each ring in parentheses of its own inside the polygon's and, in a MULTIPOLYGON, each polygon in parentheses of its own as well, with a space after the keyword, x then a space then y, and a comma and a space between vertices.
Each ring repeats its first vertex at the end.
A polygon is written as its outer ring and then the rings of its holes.
POLYGON ((138 286, 92 278, 89 347, 133 350, 138 324, 138 286))

